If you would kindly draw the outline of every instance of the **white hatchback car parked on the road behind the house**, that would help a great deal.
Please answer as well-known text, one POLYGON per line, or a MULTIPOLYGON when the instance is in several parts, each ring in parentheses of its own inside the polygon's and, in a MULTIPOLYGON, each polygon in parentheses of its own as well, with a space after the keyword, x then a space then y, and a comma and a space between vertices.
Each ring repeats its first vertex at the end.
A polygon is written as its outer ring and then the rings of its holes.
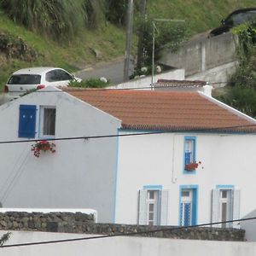
POLYGON ((59 67, 29 67, 13 73, 4 86, 4 92, 15 99, 28 90, 39 90, 49 85, 66 86, 73 80, 81 82, 81 79, 59 67))

